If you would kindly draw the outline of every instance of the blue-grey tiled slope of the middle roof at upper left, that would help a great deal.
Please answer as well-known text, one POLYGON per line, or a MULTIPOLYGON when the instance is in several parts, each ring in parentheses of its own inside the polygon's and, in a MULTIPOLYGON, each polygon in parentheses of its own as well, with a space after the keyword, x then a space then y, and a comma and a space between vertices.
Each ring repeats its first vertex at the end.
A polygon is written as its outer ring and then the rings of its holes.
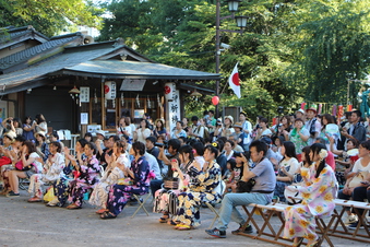
POLYGON ((0 59, 0 69, 7 69, 10 68, 14 64, 19 64, 22 61, 25 61, 38 54, 45 52, 48 49, 56 48, 58 46, 61 46, 62 44, 67 44, 69 42, 72 42, 76 38, 80 38, 81 34, 76 33, 74 36, 68 35, 67 37, 62 38, 59 37, 57 39, 52 39, 46 43, 43 43, 38 46, 31 47, 28 49, 21 50, 16 54, 12 54, 8 57, 1 58, 0 59))

